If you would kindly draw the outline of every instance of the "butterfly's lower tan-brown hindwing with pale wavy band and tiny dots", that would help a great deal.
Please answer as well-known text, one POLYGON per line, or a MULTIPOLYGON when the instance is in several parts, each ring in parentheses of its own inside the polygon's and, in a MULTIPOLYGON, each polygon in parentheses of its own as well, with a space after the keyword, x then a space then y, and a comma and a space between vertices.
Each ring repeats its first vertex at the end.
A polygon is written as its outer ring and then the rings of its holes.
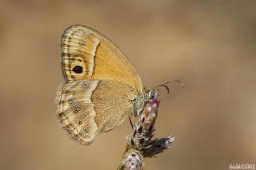
POLYGON ((90 144, 98 133, 126 120, 137 95, 137 90, 117 81, 70 81, 58 89, 58 118, 74 140, 90 144))

